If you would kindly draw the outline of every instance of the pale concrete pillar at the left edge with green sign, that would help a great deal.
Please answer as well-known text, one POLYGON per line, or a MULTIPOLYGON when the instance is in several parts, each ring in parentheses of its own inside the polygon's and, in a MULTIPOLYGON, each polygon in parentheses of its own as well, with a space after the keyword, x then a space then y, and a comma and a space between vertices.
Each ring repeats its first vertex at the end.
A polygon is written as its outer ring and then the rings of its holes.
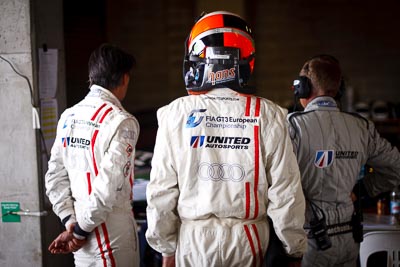
MULTIPOLYGON (((0 1, 0 55, 32 83, 29 0, 0 1)), ((38 211, 37 135, 28 83, 0 59, 0 202, 38 211)), ((40 219, 0 222, 0 266, 42 266, 40 219)))

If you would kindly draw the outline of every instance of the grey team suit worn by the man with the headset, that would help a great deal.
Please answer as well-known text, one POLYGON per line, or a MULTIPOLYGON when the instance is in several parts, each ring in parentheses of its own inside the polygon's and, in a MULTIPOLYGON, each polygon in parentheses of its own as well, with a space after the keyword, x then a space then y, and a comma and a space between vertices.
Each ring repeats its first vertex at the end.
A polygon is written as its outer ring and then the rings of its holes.
POLYGON ((288 121, 307 203, 305 228, 310 228, 313 203, 326 216, 332 242, 331 248, 318 250, 307 230, 302 266, 356 266, 359 244, 352 235, 351 192, 365 164, 380 174, 380 179, 363 179, 371 196, 392 190, 399 183, 399 152, 379 136, 372 122, 340 112, 331 97, 315 98, 304 112, 289 114, 288 121))

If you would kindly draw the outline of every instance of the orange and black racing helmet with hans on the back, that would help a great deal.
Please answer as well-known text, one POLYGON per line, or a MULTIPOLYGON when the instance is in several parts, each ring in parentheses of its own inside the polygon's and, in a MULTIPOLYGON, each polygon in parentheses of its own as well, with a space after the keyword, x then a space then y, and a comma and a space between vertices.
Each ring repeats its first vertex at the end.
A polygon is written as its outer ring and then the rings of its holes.
POLYGON ((253 94, 247 85, 254 69, 255 45, 247 23, 238 15, 216 11, 202 15, 185 42, 183 79, 189 92, 229 87, 253 94))

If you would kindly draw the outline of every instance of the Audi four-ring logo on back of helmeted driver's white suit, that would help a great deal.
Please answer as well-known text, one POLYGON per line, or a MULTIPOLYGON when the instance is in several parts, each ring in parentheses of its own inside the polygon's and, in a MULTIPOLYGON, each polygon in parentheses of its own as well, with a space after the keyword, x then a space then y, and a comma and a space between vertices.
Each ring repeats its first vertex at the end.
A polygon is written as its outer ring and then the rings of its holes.
POLYGON ((198 176, 201 180, 240 182, 246 172, 239 164, 200 163, 198 176))

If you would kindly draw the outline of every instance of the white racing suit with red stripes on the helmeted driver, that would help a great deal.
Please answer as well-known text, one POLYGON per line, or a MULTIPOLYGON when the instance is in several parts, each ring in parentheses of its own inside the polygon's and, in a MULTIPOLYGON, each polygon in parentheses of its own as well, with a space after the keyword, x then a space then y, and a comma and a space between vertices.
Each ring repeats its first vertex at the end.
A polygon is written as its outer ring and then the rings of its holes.
POLYGON ((159 109, 146 238, 177 266, 260 266, 267 214, 301 256, 305 202, 286 112, 227 88, 159 109))

